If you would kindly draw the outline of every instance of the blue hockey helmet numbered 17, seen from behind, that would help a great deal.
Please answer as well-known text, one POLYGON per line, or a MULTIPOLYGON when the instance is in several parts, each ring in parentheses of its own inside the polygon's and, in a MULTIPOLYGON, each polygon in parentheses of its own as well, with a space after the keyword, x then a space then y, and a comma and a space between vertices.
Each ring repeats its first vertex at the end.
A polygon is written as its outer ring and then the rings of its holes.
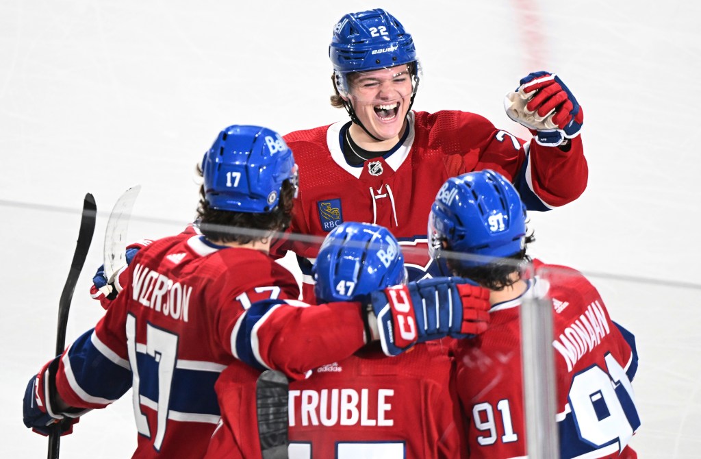
POLYGON ((297 186, 297 165, 280 134, 261 126, 229 126, 202 160, 205 199, 220 211, 267 213, 283 181, 297 186))

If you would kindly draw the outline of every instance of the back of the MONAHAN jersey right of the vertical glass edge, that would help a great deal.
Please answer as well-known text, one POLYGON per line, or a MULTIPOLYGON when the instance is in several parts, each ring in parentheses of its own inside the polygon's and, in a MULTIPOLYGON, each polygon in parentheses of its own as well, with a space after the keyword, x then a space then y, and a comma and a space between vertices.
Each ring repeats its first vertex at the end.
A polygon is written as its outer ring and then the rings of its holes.
POLYGON ((629 448, 640 418, 632 380, 637 349, 604 300, 576 270, 535 262, 553 302, 557 421, 563 457, 636 458, 629 448))

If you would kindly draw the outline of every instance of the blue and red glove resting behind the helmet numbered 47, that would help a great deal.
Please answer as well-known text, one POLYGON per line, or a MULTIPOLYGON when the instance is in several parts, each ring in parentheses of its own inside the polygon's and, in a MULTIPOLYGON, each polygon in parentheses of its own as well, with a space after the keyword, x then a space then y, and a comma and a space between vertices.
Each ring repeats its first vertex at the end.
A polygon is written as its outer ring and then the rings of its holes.
POLYGON ((482 333, 489 323, 489 290, 460 277, 437 277, 370 295, 382 350, 397 355, 416 342, 482 333))

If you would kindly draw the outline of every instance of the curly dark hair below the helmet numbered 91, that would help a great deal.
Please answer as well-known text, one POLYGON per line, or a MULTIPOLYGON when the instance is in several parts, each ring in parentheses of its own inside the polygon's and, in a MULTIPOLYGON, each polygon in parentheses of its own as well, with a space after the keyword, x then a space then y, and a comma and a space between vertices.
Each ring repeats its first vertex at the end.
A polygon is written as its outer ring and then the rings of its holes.
POLYGON ((526 234, 524 248, 522 248, 519 253, 487 263, 486 265, 459 267, 452 264, 450 259, 446 261, 450 270, 456 275, 472 279, 484 288, 501 290, 504 287, 516 284, 516 282, 521 279, 523 265, 531 262, 531 257, 526 255, 526 248, 535 240, 536 237, 533 235, 533 232, 531 232, 531 234, 526 234), (515 272, 518 274, 518 277, 512 276, 515 272))

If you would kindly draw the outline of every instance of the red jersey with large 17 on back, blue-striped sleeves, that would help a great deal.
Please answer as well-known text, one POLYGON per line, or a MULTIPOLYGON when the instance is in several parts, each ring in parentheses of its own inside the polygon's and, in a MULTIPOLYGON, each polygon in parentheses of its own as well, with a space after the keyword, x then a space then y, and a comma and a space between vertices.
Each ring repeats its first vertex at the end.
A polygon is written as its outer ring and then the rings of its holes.
POLYGON ((133 387, 135 458, 201 458, 219 422, 215 381, 233 362, 304 378, 364 345, 358 303, 271 304, 299 288, 260 251, 185 232, 142 248, 126 274, 95 329, 64 352, 56 385, 85 408, 133 387))

